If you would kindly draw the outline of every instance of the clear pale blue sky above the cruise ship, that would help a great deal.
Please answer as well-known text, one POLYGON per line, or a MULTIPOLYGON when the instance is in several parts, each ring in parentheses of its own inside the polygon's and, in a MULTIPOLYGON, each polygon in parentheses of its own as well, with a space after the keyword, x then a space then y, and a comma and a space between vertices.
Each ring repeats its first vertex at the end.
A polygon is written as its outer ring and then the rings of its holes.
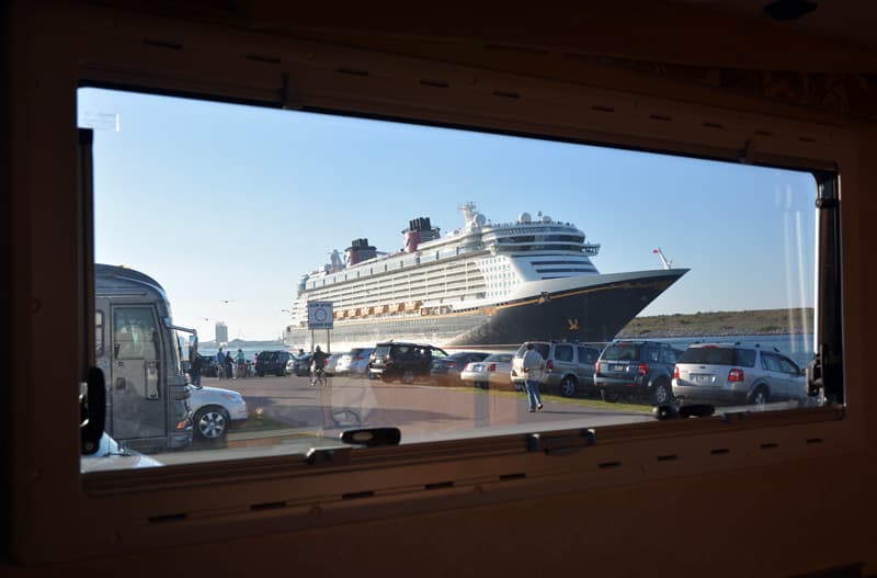
POLYGON ((94 128, 95 261, 155 277, 204 340, 278 339, 303 274, 365 237, 402 248, 458 206, 576 224, 602 273, 691 269, 640 315, 812 307, 809 173, 604 147, 79 89, 94 128))

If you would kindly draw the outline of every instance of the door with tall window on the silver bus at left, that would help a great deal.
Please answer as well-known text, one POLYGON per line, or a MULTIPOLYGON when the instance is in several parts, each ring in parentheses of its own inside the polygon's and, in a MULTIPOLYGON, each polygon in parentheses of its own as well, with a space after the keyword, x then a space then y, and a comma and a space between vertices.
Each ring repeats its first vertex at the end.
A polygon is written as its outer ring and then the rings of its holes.
POLYGON ((107 397, 117 440, 167 435, 168 400, 159 354, 158 317, 151 306, 112 307, 113 340, 107 397))

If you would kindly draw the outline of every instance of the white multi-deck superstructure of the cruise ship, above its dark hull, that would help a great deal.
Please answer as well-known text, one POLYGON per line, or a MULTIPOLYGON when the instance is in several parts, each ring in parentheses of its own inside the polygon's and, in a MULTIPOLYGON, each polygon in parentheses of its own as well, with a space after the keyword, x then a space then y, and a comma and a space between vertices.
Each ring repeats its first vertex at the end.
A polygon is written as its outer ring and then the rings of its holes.
POLYGON ((444 237, 428 218, 412 220, 400 253, 360 261, 357 252, 374 250, 364 239, 365 251, 354 241, 343 263, 333 251, 330 263, 301 279, 294 325, 307 325, 307 301, 332 302, 335 321, 447 314, 501 303, 527 282, 597 273, 590 258, 600 246, 585 243, 570 223, 523 213, 493 224, 472 203, 460 209, 465 225, 444 237))

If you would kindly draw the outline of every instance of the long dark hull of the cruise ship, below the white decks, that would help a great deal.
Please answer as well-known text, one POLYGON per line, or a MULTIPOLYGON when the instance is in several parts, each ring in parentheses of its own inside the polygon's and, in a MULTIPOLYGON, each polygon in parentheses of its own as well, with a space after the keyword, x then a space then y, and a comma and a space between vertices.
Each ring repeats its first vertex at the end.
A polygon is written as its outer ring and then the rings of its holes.
MULTIPOLYGON (((592 275, 536 282, 525 297, 442 315, 368 317, 335 321, 329 335, 335 351, 378 341, 415 341, 449 349, 511 348, 527 340, 611 341, 634 317, 687 270, 592 275)), ((324 343, 326 331, 293 328, 289 347, 324 343)))

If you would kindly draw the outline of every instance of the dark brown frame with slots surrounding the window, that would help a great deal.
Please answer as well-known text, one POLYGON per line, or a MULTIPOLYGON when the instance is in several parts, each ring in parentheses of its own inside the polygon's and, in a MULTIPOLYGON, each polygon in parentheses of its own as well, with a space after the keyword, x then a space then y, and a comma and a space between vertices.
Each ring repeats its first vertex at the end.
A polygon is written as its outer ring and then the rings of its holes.
MULTIPOLYGON (((580 430, 550 432, 540 439, 536 451, 528 446, 532 440, 526 435, 513 434, 339 452, 335 456, 323 456, 323 461, 316 464, 243 460, 80 478, 76 443, 79 424, 75 411, 78 399, 77 392, 69 385, 81 377, 81 358, 76 352, 89 347, 93 350, 93 336, 82 327, 91 325, 83 319, 94 319, 82 315, 82 304, 91 296, 88 280, 91 261, 90 256, 83 254, 88 252, 83 247, 90 241, 83 239, 70 248, 49 237, 67 242, 68 238, 81 238, 83 233, 89 236, 84 230, 88 219, 78 217, 83 214, 81 205, 89 201, 77 192, 75 139, 50 138, 57 135, 58 126, 69 126, 71 132, 76 128, 76 90, 83 82, 806 169, 817 174, 820 191, 836 192, 841 169, 844 174, 856 174, 857 151, 855 139, 842 127, 790 120, 779 113, 744 112, 742 102, 738 103, 739 109, 707 107, 623 90, 293 39, 284 41, 283 47, 275 47, 284 56, 283 64, 266 70, 264 63, 240 58, 248 49, 260 46, 262 41, 254 34, 207 27, 201 32, 202 46, 215 50, 181 48, 182 55, 170 50, 164 55, 158 50, 167 48, 141 42, 143 37, 150 37, 151 31, 161 30, 159 37, 163 37, 166 33, 160 21, 126 16, 123 19, 125 26, 113 32, 100 24, 98 18, 90 13, 47 15, 39 23, 31 24, 35 33, 49 33, 53 26, 61 26, 59 19, 66 21, 65 30, 72 32, 58 39, 52 49, 32 47, 25 56, 18 56, 33 65, 30 73, 43 82, 44 88, 36 91, 30 102, 16 103, 23 111, 13 123, 16 155, 26 159, 55 158, 60 167, 54 174, 41 175, 25 165, 15 177, 16 190, 21 183, 27 183, 33 191, 31 206, 19 211, 29 212, 33 217, 33 237, 38 240, 23 256, 30 258, 33 272, 29 290, 44 295, 43 311, 33 320, 24 321, 26 331, 23 335, 26 347, 34 351, 49 350, 52 348, 45 345, 50 343, 48 336, 55 333, 46 328, 57 324, 64 335, 76 337, 76 343, 68 345, 70 351, 61 348, 58 369, 50 376, 41 375, 32 366, 15 370, 16 377, 24 378, 15 379, 20 384, 16 393, 22 395, 16 396, 12 411, 14 430, 21 433, 13 442, 13 520, 21 529, 13 537, 14 559, 46 563, 265 531, 331 526, 396 514, 498 503, 545 491, 579 491, 805 456, 831 456, 841 446, 847 451, 862 446, 863 418, 856 408, 856 404, 861 407, 863 403, 862 376, 855 374, 855 378, 843 379, 848 378, 848 373, 844 375, 843 372, 855 365, 843 364, 843 356, 848 355, 850 350, 839 348, 842 331, 861 333, 856 320, 841 315, 845 299, 852 297, 859 303, 857 294, 850 295, 844 290, 852 284, 841 286, 841 276, 856 273, 854 267, 842 267, 840 242, 827 247, 830 243, 820 238, 818 251, 835 251, 832 264, 839 272, 836 279, 820 277, 817 299, 824 298, 827 293, 836 297, 830 302, 836 311, 819 307, 816 328, 820 336, 830 333, 836 338, 829 351, 823 349, 829 339, 820 339, 820 356, 829 363, 824 375, 827 384, 835 388, 833 393, 840 404, 836 406, 763 413, 730 422, 698 419, 613 428, 599 437, 596 445, 577 451, 560 463, 550 455, 546 442, 555 440, 562 445, 565 441, 581 437, 580 430), (71 29, 69 21, 76 22, 78 27, 71 29), (124 50, 117 50, 119 46, 124 50), (310 58, 316 53, 320 58, 310 58), (351 60, 375 70, 368 83, 356 76, 338 72, 338 63, 351 60), (459 93, 445 90, 440 94, 417 83, 412 87, 406 83, 423 70, 438 78, 475 75, 483 86, 521 87, 533 99, 503 101, 490 92, 481 94, 479 86, 460 88, 459 93), (551 106, 558 102, 562 104, 559 110, 551 106), (614 103, 614 113, 610 116, 585 109, 580 115, 573 114, 584 102, 614 103), (645 123, 643 111, 663 112, 674 122, 645 123), (713 128, 704 128, 707 118, 713 124, 736 128, 717 137, 713 128), (29 133, 23 136, 25 125, 29 133), (775 138, 752 136, 758 129, 765 131, 764 127, 771 127, 775 138), (749 136, 751 138, 745 138, 749 136), (750 143, 754 146, 749 146, 750 143), (77 211, 47 214, 36 208, 52 206, 53 202, 76 206, 77 211), (43 238, 45 233, 55 229, 60 234, 43 238), (70 259, 58 259, 58 252, 70 259), (64 264, 57 267, 57 262, 64 264), (70 281, 69 286, 76 286, 77 291, 70 292, 71 295, 47 291, 58 279, 70 281), (836 283, 833 290, 825 286, 830 282, 836 283), (52 320, 47 321, 48 318, 52 320), (39 390, 39 398, 24 393, 24 386, 39 390), (39 420, 34 419, 37 399, 49 396, 57 399, 57 404, 48 408, 48 415, 54 422, 62 424, 60 430, 70 433, 70 440, 50 437, 41 430, 39 420), (843 405, 847 399, 853 401, 850 410, 843 405), (661 428, 660 443, 651 439, 654 427, 661 428), (697 453, 699 446, 713 443, 717 435, 731 449, 732 458, 718 462, 708 454, 697 453), (737 452, 767 438, 776 440, 783 451, 737 452), (805 439, 827 442, 800 443, 805 439), (653 455, 667 453, 668 440, 672 442, 673 452, 691 452, 691 458, 674 465, 672 471, 653 463, 653 455), (597 467, 612 460, 629 467, 612 472, 597 467), (205 477, 212 478, 210 485, 202 481, 205 477), (424 494, 431 483, 448 479, 454 480, 452 490, 424 494), (570 489, 558 489, 558 481, 570 483, 563 486, 570 489), (157 500, 157 496, 169 498, 157 500), (356 496, 371 499, 349 499, 356 496), (283 507, 270 512, 259 508, 278 503, 283 507), (77 531, 83 522, 91 529, 89 532, 77 531), (204 531, 196 534, 192 531, 194 526, 204 531), (47 552, 43 547, 46 543, 58 547, 47 552)), ((820 199, 833 202, 836 207, 839 194, 822 196, 820 193, 820 199)), ((843 231, 836 217, 836 229, 821 234, 836 235, 840 240, 842 234, 850 235, 848 224, 853 233, 861 229, 855 211, 844 212, 843 217, 843 231)), ((853 239, 846 239, 855 247, 853 239)), ((861 351, 856 349, 855 354, 855 359, 861 360, 861 351)))

